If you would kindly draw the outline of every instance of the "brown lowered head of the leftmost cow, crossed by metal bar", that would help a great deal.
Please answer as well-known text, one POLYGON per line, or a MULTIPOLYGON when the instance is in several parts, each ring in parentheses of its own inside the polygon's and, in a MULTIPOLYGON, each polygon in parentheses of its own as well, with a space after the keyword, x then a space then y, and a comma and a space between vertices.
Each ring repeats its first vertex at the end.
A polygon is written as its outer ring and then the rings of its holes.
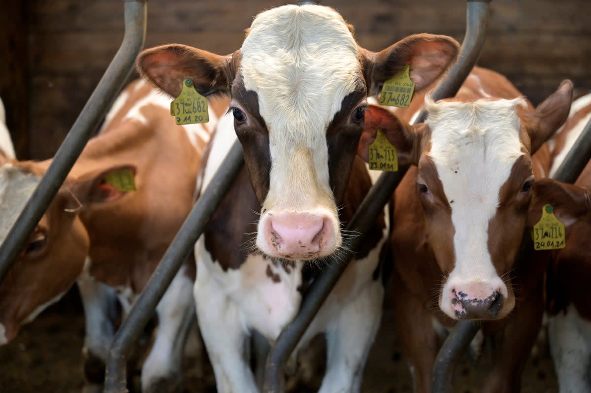
MULTIPOLYGON (((37 187, 45 168, 9 161, 0 167, 0 243, 37 187)), ((0 345, 72 286, 88 255, 86 230, 76 215, 79 204, 60 188, 0 284, 0 345)))

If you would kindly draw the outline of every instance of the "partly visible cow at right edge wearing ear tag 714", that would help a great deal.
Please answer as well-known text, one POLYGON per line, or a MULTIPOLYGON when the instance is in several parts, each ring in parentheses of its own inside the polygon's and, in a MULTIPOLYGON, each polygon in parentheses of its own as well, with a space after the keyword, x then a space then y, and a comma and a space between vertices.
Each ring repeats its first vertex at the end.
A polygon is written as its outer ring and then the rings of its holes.
MULTIPOLYGON (((573 101, 569 119, 554 138, 551 174, 563 163, 584 126, 591 120, 591 94, 573 101)), ((540 263, 547 263, 546 302, 548 340, 561 393, 591 392, 591 163, 587 163, 577 181, 564 184, 550 179, 538 180, 530 206, 530 226, 540 220, 545 204, 564 223, 564 248, 536 251, 540 263)))

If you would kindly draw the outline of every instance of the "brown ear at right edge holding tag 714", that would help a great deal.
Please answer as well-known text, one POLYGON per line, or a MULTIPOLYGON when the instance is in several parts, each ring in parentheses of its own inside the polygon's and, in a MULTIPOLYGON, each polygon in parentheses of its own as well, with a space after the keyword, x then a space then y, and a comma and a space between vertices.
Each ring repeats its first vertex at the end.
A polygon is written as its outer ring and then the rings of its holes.
POLYGON ((587 217, 591 209, 590 201, 591 192, 584 187, 548 178, 537 180, 534 184, 534 198, 530 204, 528 225, 535 225, 542 216, 544 205, 550 204, 557 219, 569 227, 581 217, 587 217))

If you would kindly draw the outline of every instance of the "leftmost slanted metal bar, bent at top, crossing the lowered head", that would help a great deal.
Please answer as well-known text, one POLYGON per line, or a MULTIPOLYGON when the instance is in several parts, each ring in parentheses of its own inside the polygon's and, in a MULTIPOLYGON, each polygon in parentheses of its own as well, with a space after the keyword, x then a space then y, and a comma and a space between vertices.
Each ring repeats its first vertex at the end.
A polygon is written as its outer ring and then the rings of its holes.
POLYGON ((72 129, 66 135, 47 173, 0 246, 0 282, 56 196, 86 142, 111 106, 134 67, 135 57, 144 46, 147 0, 124 0, 125 34, 121 47, 100 79, 72 129))

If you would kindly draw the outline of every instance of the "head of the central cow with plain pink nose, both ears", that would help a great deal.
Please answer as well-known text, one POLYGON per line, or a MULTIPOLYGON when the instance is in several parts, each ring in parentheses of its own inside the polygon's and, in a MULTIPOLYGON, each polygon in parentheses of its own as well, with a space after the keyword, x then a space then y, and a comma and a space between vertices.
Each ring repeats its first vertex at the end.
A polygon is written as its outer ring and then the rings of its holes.
POLYGON ((342 244, 337 206, 368 94, 404 64, 421 90, 457 51, 452 38, 420 34, 374 53, 358 46, 333 9, 287 5, 259 14, 229 56, 167 45, 145 50, 137 64, 171 96, 188 78, 201 93, 232 97, 235 131, 262 204, 256 245, 272 257, 314 259, 342 244))

